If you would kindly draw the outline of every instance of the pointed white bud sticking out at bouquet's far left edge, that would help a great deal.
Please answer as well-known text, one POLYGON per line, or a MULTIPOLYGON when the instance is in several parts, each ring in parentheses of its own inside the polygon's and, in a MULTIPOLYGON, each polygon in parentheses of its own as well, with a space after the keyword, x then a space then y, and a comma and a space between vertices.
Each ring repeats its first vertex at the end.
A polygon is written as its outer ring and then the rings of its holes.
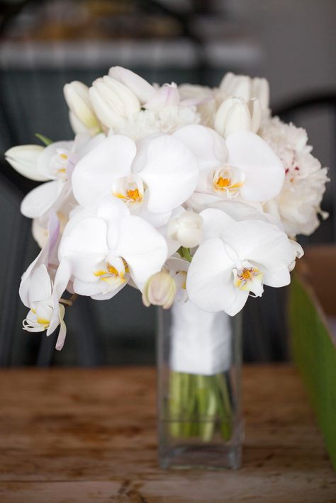
POLYGON ((49 178, 38 170, 38 158, 44 149, 45 147, 40 147, 40 145, 11 147, 5 152, 5 158, 18 173, 26 176, 26 178, 35 181, 46 181, 49 178))

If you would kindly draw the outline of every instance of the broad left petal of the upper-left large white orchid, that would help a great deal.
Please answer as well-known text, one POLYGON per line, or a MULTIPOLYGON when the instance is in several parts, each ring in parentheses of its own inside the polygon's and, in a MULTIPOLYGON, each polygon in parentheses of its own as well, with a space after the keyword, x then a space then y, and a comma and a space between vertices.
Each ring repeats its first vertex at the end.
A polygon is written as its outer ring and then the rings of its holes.
POLYGON ((113 181, 130 173, 135 152, 133 140, 113 135, 83 157, 72 174, 74 197, 79 204, 86 206, 111 196, 113 181))

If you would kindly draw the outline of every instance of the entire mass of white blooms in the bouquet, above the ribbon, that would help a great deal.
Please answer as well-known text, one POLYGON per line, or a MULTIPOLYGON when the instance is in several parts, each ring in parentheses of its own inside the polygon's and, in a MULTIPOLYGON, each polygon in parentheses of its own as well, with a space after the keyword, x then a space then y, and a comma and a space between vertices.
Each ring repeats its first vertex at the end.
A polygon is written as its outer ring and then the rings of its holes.
POLYGON ((306 132, 271 118, 265 79, 157 86, 113 67, 64 91, 74 140, 6 152, 43 182, 21 205, 41 248, 21 281, 26 330, 60 326, 61 349, 65 291, 106 300, 128 284, 147 306, 235 315, 289 284, 327 175, 306 132))

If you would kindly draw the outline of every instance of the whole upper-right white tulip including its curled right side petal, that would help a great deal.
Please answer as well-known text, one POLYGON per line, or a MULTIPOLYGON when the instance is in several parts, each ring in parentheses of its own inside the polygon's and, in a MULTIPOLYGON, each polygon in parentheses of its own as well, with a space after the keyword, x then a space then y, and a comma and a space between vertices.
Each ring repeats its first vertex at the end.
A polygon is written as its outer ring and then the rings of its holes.
POLYGON ((262 120, 259 101, 253 98, 245 102, 242 98, 226 98, 215 114, 215 130, 223 137, 235 131, 257 132, 262 120))

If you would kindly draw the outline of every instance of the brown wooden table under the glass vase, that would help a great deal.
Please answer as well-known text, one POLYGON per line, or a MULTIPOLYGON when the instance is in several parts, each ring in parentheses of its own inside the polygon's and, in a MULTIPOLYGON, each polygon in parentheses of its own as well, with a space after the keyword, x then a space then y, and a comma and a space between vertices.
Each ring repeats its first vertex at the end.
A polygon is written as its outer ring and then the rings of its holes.
POLYGON ((152 368, 0 371, 0 502, 336 502, 290 366, 244 371, 244 468, 157 468, 152 368))

